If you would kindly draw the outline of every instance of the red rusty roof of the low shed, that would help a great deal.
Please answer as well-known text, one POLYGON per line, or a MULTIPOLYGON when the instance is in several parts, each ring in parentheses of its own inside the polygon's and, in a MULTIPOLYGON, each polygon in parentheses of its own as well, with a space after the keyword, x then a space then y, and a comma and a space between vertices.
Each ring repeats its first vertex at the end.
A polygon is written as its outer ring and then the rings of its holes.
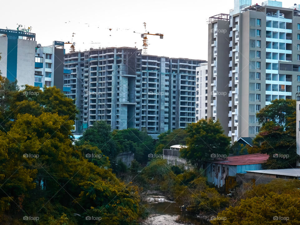
POLYGON ((225 164, 225 165, 251 165, 251 164, 260 164, 265 163, 269 155, 267 154, 249 154, 241 156, 230 156, 226 159, 218 159, 212 163, 225 164))

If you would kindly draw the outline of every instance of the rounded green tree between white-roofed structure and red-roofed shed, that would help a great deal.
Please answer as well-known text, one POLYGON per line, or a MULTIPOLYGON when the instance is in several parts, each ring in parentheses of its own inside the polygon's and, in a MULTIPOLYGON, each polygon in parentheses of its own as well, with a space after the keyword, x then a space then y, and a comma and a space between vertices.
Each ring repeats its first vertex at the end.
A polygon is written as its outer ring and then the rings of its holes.
POLYGON ((181 157, 198 169, 204 161, 211 161, 211 154, 227 155, 230 138, 223 134, 219 121, 201 119, 187 125, 187 148, 181 148, 181 157))

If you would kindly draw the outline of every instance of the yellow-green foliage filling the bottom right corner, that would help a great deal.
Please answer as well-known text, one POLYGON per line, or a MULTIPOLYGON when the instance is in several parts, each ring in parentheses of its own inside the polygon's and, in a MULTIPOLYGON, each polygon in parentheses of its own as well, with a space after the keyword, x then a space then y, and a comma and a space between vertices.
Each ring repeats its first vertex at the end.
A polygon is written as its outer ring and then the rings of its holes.
POLYGON ((300 181, 276 179, 251 187, 235 207, 212 220, 214 225, 300 224, 300 181))

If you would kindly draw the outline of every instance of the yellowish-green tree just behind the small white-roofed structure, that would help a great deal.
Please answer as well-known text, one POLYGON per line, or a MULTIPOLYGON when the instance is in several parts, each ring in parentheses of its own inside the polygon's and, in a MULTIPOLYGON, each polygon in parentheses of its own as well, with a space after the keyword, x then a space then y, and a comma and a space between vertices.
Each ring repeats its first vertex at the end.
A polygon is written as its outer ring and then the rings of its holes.
POLYGON ((155 145, 155 154, 163 154, 163 149, 170 148, 172 145, 185 145, 187 132, 185 129, 168 130, 167 132, 158 135, 158 141, 155 145))

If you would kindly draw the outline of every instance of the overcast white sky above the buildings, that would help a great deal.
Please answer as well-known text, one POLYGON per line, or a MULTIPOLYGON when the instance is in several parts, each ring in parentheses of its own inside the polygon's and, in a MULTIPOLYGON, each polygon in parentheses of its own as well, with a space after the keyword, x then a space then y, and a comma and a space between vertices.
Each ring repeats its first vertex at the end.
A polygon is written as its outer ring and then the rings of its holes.
MULTIPOLYGON (((262 0, 252 0, 260 4, 262 0)), ((289 8, 297 0, 284 0, 289 8)), ((229 13, 233 0, 51 0, 5 1, 1 7, 0 28, 32 26, 37 43, 54 40, 73 42, 75 50, 90 47, 143 48, 143 22, 150 33, 148 54, 207 60, 207 20, 219 13, 229 13), (109 31, 108 28, 112 28, 109 31), (100 42, 93 44, 92 42, 100 42), (135 43, 136 42, 136 43, 135 43)), ((66 45, 66 52, 70 45, 66 45)))

